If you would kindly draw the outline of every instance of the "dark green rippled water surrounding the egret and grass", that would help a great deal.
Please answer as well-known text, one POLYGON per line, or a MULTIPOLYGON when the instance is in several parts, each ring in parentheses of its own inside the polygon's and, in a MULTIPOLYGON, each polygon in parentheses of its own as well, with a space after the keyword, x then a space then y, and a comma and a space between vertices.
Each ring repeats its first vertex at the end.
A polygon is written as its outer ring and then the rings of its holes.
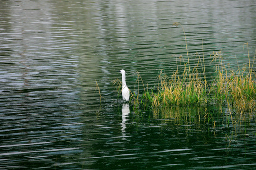
POLYGON ((174 22, 186 32, 191 67, 203 40, 209 80, 213 51, 232 68, 248 64, 255 0, 1 0, 0 7, 0 169, 256 167, 255 112, 242 121, 234 114, 232 126, 225 107, 135 111, 112 85, 120 69, 132 91, 142 88, 137 71, 148 86, 160 69, 173 73, 179 56, 186 59, 174 22))

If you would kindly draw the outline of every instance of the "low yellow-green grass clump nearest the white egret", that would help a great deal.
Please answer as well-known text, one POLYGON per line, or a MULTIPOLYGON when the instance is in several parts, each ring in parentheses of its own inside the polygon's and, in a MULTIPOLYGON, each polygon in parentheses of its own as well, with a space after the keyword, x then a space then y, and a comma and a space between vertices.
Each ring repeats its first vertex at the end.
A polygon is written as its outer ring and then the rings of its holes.
MULTIPOLYGON (((151 93, 153 107, 167 105, 201 105, 207 102, 206 89, 200 78, 179 76, 178 71, 169 79, 161 70, 156 92, 151 93)), ((147 94, 147 96, 149 96, 147 94)))

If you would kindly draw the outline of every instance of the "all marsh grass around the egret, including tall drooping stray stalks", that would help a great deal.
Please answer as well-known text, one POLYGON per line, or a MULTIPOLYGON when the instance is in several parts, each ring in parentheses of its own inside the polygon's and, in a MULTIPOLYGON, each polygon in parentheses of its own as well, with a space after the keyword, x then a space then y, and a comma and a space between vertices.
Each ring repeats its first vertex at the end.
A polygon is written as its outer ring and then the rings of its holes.
MULTIPOLYGON (((174 23, 174 26, 182 26, 174 23)), ((183 29, 183 26, 182 26, 183 29)), ((173 106, 207 106, 221 105, 228 106, 229 116, 232 124, 232 113, 252 113, 256 110, 256 73, 253 71, 254 59, 250 59, 248 43, 248 66, 234 70, 229 67, 229 63, 225 64, 222 58, 222 52, 213 51, 210 55, 211 63, 215 70, 215 76, 208 81, 205 72, 204 53, 193 56, 198 58, 197 65, 190 67, 189 54, 187 49, 187 40, 183 29, 187 59, 180 56, 180 62, 183 62, 183 70, 175 70, 172 76, 167 76, 164 70, 160 70, 157 77, 158 84, 154 87, 145 86, 142 77, 137 72, 137 81, 139 85, 143 85, 143 92, 139 89, 137 93, 130 92, 130 102, 135 108, 149 107, 152 109, 165 108, 173 106), (252 61, 251 61, 252 60, 252 61)), ((203 43, 202 43, 203 51, 203 43)), ((178 61, 177 61, 178 62, 178 61)), ((97 84, 97 82, 96 82, 97 84)), ((117 91, 121 92, 122 82, 115 79, 113 84, 116 85, 117 91)), ((99 86, 97 84, 97 88, 99 86)), ((100 89, 99 89, 100 93, 100 89)), ((100 94, 101 96, 101 94, 100 94)))

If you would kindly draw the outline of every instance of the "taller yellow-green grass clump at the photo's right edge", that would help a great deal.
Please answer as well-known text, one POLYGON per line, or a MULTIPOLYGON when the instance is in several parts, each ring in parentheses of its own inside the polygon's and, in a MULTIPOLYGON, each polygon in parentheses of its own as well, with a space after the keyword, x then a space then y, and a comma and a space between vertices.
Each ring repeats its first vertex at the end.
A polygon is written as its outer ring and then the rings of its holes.
POLYGON ((240 112, 252 112, 256 109, 256 74, 252 71, 253 65, 249 68, 228 70, 223 65, 222 56, 219 52, 214 54, 216 63, 216 77, 210 86, 210 94, 217 103, 227 102, 240 112), (246 70, 247 73, 246 73, 246 70))

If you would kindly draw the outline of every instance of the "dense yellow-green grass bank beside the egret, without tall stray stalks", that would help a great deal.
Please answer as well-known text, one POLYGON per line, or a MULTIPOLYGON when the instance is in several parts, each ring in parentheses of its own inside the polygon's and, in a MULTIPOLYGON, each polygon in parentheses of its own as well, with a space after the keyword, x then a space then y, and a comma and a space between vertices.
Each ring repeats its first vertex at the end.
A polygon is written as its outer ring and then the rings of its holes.
MULTIPOLYGON (((228 105, 230 114, 230 107, 239 112, 256 110, 256 74, 252 72, 252 66, 235 71, 224 66, 221 51, 213 54, 216 71, 211 82, 206 80, 204 64, 198 64, 190 72, 184 63, 181 75, 176 70, 169 78, 161 70, 158 85, 142 94, 144 102, 149 102, 152 107, 228 105), (203 76, 200 76, 198 68, 201 68, 203 76)), ((204 62, 199 59, 198 63, 204 62)))

